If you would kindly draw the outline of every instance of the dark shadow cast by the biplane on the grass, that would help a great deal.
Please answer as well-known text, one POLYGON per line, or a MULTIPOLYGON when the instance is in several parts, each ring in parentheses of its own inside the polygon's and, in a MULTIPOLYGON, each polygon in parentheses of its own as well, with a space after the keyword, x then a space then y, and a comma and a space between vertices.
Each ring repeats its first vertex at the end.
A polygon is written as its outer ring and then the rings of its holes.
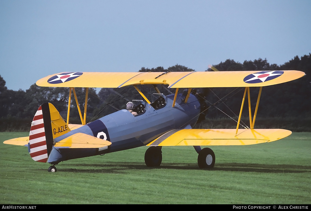
MULTIPOLYGON (((68 165, 67 165, 68 166, 68 165)), ((81 172, 81 173, 116 173, 123 174, 124 170, 150 170, 155 167, 147 167, 143 163, 109 163, 109 164, 81 164, 79 166, 72 164, 77 168, 64 168, 63 172, 81 172), (83 169, 81 167, 94 167, 93 169, 83 169)), ((311 172, 311 166, 304 165, 285 165, 285 164, 253 164, 253 163, 219 163, 213 169, 198 169, 197 164, 189 163, 167 163, 156 169, 174 169, 174 170, 207 170, 207 171, 239 171, 239 172, 262 172, 262 173, 304 173, 311 172)))

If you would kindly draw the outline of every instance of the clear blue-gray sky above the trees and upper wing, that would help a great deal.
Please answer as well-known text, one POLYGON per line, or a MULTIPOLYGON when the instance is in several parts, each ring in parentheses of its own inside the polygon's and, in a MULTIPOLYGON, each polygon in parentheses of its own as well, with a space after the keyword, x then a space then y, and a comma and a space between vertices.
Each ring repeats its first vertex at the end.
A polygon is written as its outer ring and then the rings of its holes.
POLYGON ((66 71, 282 65, 311 52, 310 11, 310 0, 2 0, 0 75, 26 90, 66 71))

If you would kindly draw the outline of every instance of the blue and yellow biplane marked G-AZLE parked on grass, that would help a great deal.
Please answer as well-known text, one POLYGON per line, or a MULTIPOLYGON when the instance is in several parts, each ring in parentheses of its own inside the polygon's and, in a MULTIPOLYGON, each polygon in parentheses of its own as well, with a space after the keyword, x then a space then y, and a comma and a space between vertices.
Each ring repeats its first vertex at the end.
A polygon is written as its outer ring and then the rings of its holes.
POLYGON ((160 166, 163 146, 193 146, 198 153, 199 168, 212 168, 215 153, 201 146, 251 145, 276 141, 291 131, 284 129, 254 129, 262 87, 281 84, 304 76, 296 70, 276 71, 214 71, 214 72, 64 72, 39 79, 43 87, 68 87, 68 113, 65 121, 51 103, 42 104, 31 122, 29 137, 14 138, 5 144, 28 146, 31 158, 55 165, 70 159, 103 155, 140 146, 149 146, 145 163, 160 166), (151 101, 138 85, 154 88, 151 101), (175 94, 161 94, 158 85, 176 89, 175 94), (106 115, 86 124, 88 87, 121 88, 133 86, 141 99, 132 100, 133 115, 126 109, 106 115), (86 88, 84 115, 80 110, 76 87, 86 88), (193 89, 202 87, 243 87, 239 119, 236 129, 193 129, 202 105, 193 89), (260 87, 255 112, 252 115, 250 87, 260 87), (183 93, 179 93, 183 89, 183 93), (74 94, 80 125, 69 123, 71 95, 74 94), (246 96, 247 94, 247 96, 246 96), (244 101, 248 98, 249 129, 239 129, 244 101))

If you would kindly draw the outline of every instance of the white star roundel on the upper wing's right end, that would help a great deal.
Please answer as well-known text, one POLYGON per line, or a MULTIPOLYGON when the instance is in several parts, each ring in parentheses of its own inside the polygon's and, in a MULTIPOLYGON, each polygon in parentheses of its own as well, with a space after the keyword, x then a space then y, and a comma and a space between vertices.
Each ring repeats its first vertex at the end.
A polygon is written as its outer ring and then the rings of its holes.
POLYGON ((269 81, 281 76, 284 72, 281 70, 262 71, 246 76, 243 81, 248 84, 257 84, 269 81))

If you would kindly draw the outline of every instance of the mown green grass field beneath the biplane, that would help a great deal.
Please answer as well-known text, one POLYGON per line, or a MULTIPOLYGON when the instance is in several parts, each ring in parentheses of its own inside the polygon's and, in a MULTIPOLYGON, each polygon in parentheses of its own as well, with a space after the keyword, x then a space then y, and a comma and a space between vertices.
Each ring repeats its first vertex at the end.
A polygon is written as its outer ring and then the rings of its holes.
POLYGON ((272 143, 214 146, 212 170, 197 166, 191 146, 163 147, 159 168, 147 147, 65 161, 51 173, 27 147, 0 133, 0 204, 311 204, 311 132, 272 143))

